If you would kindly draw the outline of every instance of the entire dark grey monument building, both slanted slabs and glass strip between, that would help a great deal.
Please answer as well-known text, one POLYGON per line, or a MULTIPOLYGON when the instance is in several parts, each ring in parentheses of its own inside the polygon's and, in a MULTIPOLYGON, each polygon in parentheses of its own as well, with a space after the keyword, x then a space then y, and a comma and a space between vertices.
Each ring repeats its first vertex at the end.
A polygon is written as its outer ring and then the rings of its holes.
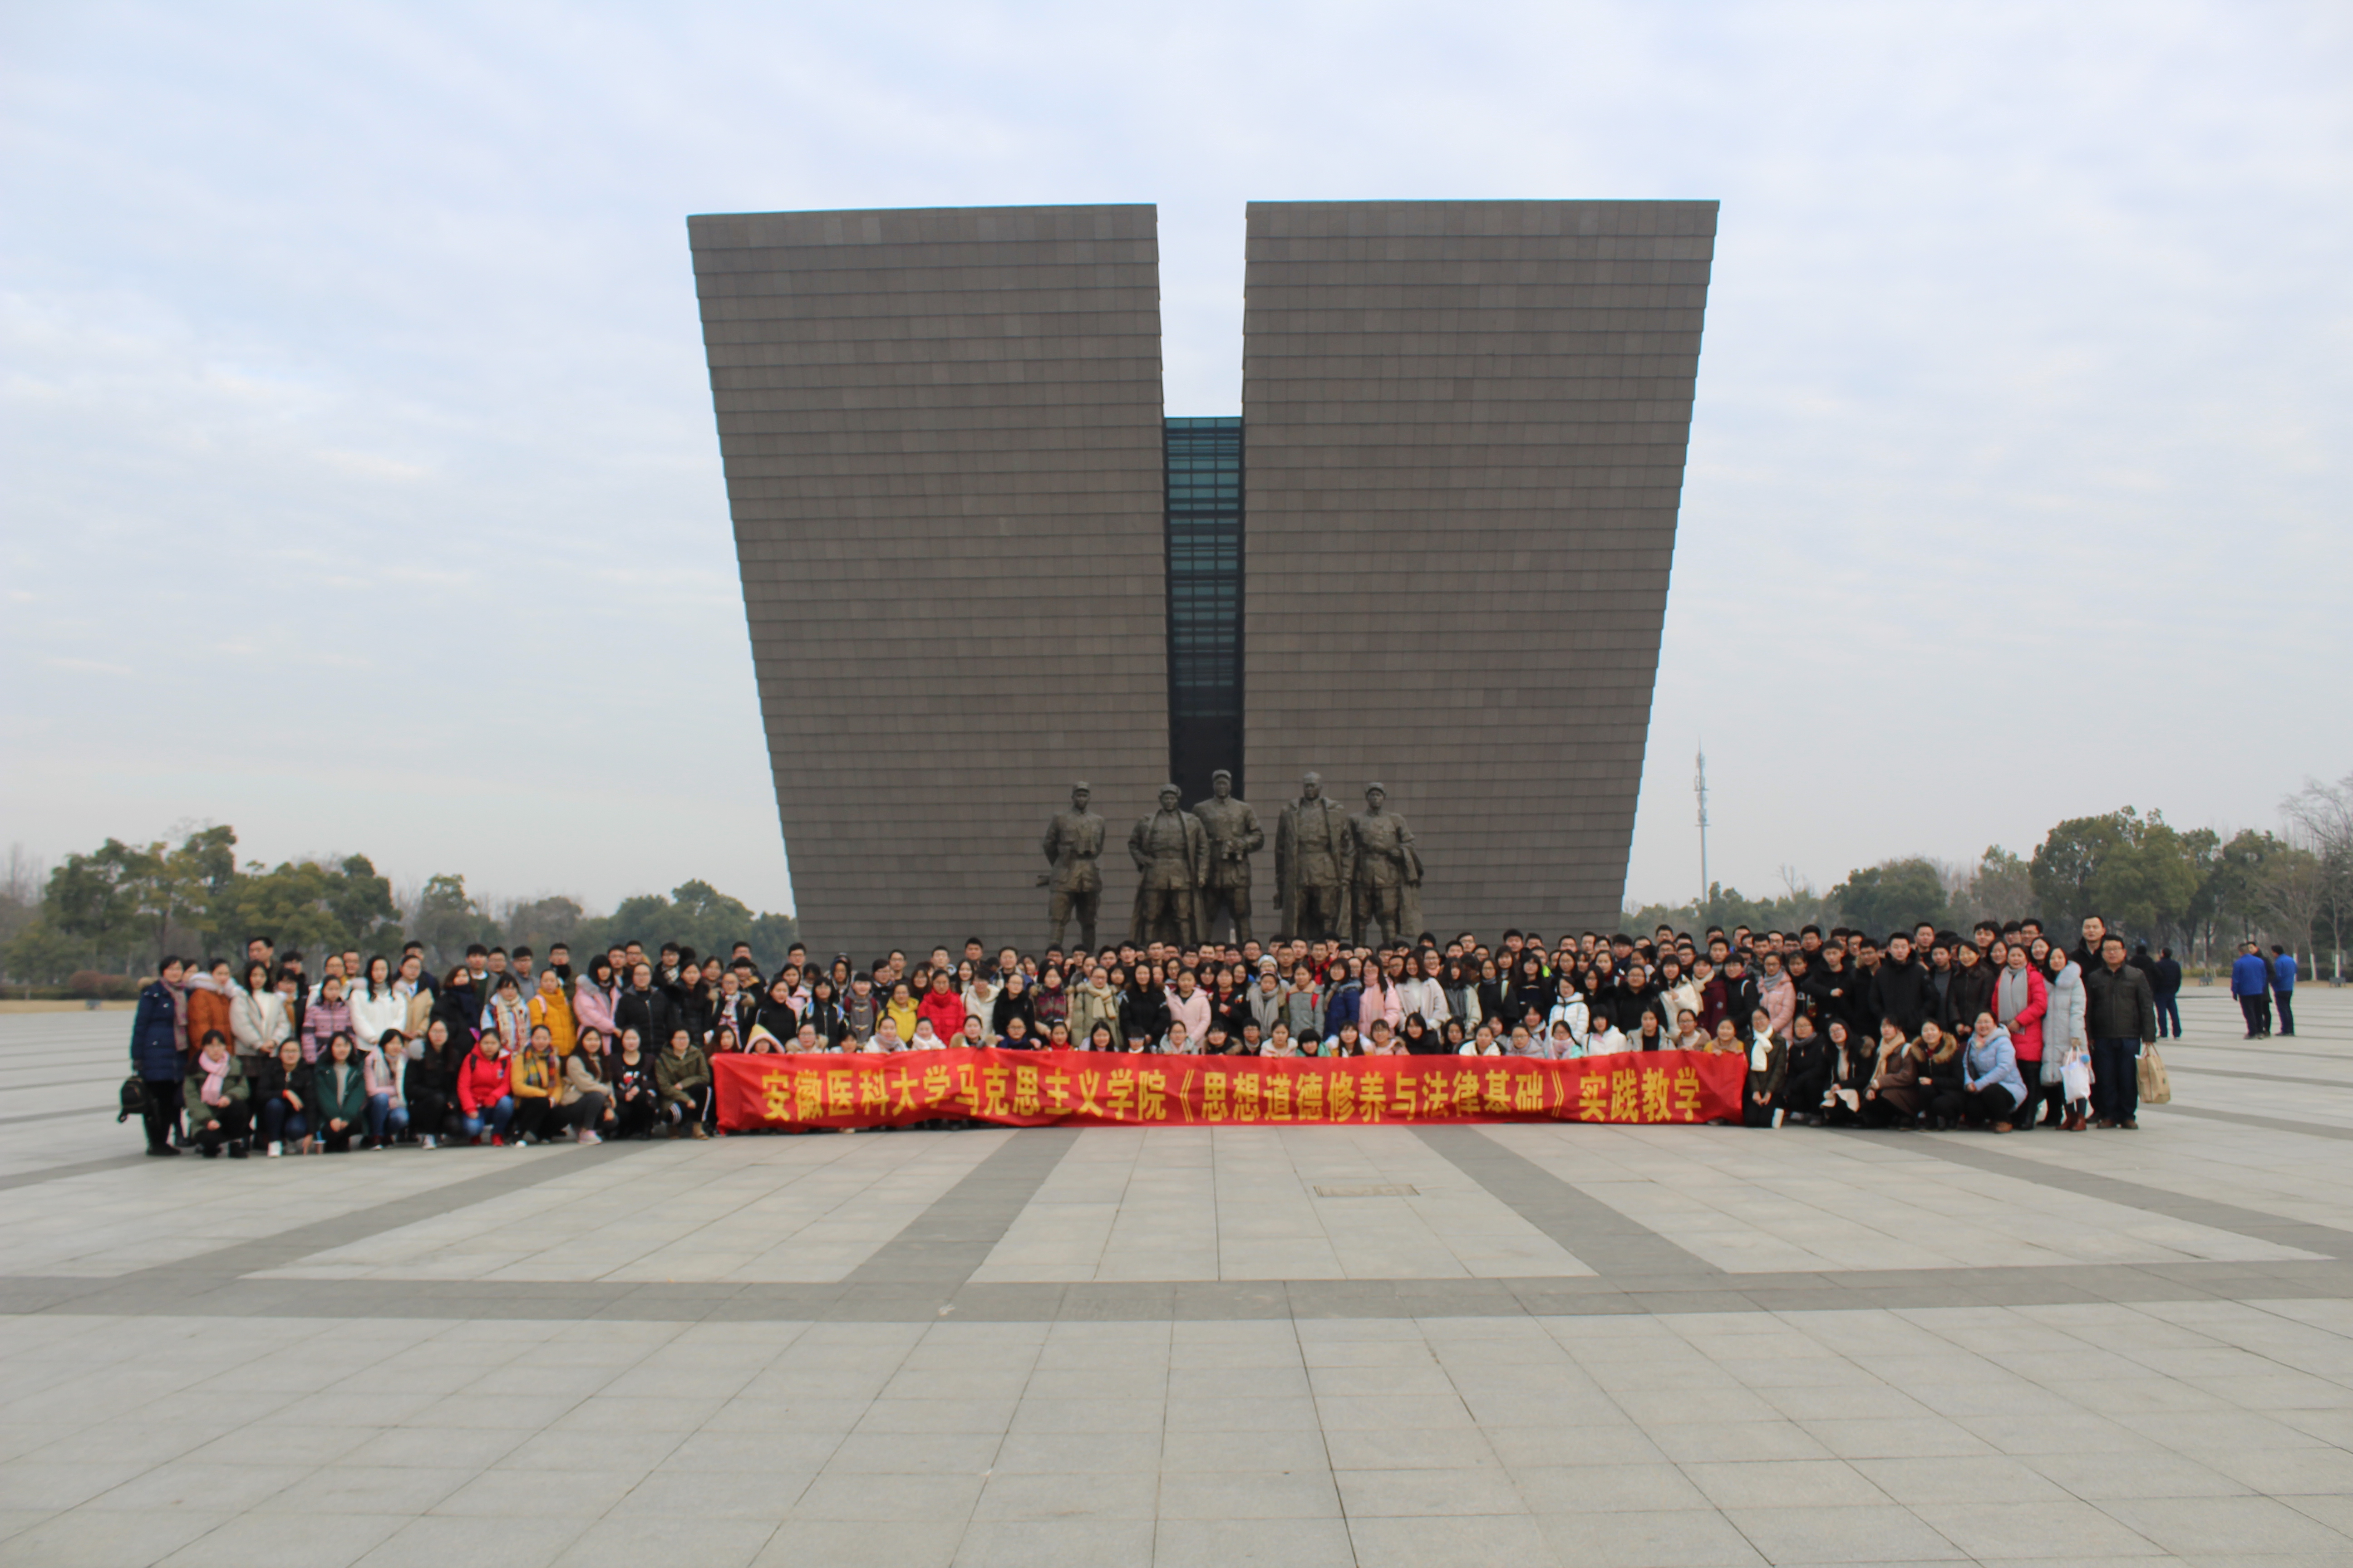
MULTIPOLYGON (((1252 205, 1245 414, 1160 409, 1151 207, 689 219, 812 947, 1038 945, 1038 832, 1381 780, 1435 931, 1609 929, 1715 202, 1252 205)), ((1261 931, 1273 865, 1259 867, 1261 931)))

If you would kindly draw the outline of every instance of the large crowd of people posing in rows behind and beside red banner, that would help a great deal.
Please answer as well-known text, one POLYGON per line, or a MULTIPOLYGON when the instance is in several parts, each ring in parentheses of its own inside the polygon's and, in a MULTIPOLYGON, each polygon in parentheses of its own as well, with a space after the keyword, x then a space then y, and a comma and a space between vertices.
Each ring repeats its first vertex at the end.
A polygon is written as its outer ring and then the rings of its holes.
MULTIPOLYGON (((962 957, 866 969, 795 945, 762 973, 664 943, 574 954, 167 957, 132 1023, 148 1154, 708 1138, 711 1058, 995 1046, 1184 1056, 1746 1058, 1746 1126, 2132 1128, 2137 1060, 2181 1032, 2172 952, 2099 917, 1878 933, 1659 926, 1546 945, 1506 931, 1379 947, 1278 940, 962 957), (2167 1027, 2169 1025, 2169 1027, 2167 1027)), ((2249 1030, 2254 1027, 2249 1013, 2249 1030)))

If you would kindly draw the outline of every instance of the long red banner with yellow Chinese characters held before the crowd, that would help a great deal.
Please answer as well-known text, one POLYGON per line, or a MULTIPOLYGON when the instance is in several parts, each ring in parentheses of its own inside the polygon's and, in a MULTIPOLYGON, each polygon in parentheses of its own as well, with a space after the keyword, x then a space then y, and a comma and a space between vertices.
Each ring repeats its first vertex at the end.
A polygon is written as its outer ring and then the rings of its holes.
POLYGON ((1718 1121, 1748 1058, 1642 1051, 1518 1056, 1125 1056, 894 1051, 711 1058, 729 1133, 809 1126, 1341 1126, 1381 1121, 1718 1121))

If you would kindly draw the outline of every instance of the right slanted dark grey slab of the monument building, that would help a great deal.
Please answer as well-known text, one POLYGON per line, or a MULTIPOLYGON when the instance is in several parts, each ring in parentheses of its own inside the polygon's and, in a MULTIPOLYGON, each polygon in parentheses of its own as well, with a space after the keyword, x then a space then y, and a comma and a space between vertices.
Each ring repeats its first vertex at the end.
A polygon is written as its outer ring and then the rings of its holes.
POLYGON ((1254 790, 1384 783, 1435 931, 1617 924, 1713 242, 1715 202, 1249 207, 1254 790))

